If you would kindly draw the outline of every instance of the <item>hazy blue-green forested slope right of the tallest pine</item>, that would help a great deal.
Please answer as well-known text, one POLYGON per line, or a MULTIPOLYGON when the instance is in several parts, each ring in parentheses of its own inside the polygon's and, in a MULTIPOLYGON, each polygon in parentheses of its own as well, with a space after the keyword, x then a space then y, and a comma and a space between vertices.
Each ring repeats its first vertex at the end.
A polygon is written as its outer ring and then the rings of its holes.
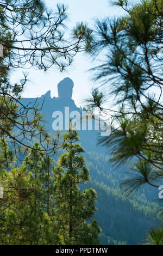
POLYGON ((156 201, 153 202, 158 191, 149 191, 145 187, 130 197, 124 196, 119 185, 127 178, 127 164, 126 167, 114 168, 108 156, 95 151, 87 152, 85 157, 91 181, 84 187, 93 187, 97 192, 98 211, 95 218, 103 230, 102 244, 108 243, 108 236, 117 244, 120 241, 130 245, 141 244, 148 229, 159 224, 156 217, 159 206, 156 201))

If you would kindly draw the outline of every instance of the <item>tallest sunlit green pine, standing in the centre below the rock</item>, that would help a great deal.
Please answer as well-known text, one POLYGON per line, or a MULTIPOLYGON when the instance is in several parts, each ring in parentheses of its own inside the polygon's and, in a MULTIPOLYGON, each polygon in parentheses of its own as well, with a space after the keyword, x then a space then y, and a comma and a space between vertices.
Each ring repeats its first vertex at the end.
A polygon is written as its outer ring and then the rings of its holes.
POLYGON ((79 184, 89 180, 89 170, 84 166, 84 152, 78 134, 69 130, 64 135, 66 150, 53 168, 55 216, 60 225, 59 234, 66 245, 97 245, 101 232, 95 220, 90 218, 96 211, 96 192, 92 188, 81 191, 79 184), (88 223, 89 222, 89 223, 88 223))

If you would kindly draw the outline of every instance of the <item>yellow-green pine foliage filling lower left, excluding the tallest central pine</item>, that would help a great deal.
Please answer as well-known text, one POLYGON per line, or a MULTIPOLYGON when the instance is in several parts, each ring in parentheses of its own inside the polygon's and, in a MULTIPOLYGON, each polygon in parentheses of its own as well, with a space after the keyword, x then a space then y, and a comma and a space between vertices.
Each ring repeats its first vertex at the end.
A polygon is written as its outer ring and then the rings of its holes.
POLYGON ((52 214, 53 183, 47 171, 52 160, 42 157, 39 150, 39 144, 35 143, 22 166, 9 172, 1 170, 1 245, 62 243, 52 214))

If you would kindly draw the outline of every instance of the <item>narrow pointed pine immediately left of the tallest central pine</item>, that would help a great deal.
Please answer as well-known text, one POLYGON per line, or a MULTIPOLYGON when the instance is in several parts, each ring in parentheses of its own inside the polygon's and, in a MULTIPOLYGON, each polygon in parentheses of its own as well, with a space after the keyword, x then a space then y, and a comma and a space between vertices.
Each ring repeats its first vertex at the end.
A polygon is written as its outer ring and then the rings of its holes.
POLYGON ((30 232, 33 244, 55 244, 60 240, 55 227, 52 200, 53 181, 51 175, 53 159, 42 154, 39 143, 35 142, 29 156, 24 160, 26 172, 32 175, 35 187, 33 201, 30 202, 31 216, 35 220, 30 232), (41 225, 42 223, 42 225, 41 225))

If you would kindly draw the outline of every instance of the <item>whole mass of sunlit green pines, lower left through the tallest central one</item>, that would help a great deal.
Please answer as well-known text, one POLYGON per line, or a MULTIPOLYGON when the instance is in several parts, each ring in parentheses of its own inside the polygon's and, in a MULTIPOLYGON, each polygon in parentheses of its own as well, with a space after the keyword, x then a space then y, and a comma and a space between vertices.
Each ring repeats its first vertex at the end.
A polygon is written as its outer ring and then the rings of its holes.
MULTIPOLYGON (((53 159, 43 155, 35 142, 22 166, 0 169, 1 245, 99 243, 101 229, 95 220, 89 222, 97 196, 92 188, 79 190, 78 184, 89 180, 89 173, 79 155, 84 150, 76 141, 76 131, 64 135, 62 148, 67 152, 60 156, 57 167, 53 168, 53 159)), ((3 155, 10 156, 10 151, 7 143, 1 149, 3 167, 7 165, 3 155)))

